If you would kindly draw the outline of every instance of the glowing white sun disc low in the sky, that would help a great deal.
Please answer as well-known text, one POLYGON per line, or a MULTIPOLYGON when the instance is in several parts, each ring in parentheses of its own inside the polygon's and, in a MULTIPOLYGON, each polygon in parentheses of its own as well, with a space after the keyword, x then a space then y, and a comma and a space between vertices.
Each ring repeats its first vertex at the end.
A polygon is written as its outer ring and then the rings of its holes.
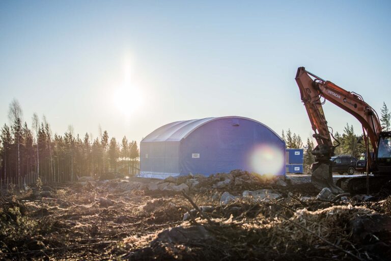
POLYGON ((113 102, 120 113, 129 116, 142 106, 143 97, 139 89, 131 86, 122 86, 115 90, 113 102))

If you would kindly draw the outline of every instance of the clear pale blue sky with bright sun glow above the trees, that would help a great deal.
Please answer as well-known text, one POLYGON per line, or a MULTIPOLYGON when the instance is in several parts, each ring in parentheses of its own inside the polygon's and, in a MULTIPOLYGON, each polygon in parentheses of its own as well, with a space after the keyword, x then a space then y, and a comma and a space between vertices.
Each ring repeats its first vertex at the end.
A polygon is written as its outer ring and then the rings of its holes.
MULTIPOLYGON (((0 1, 0 124, 141 141, 178 120, 242 116, 305 141, 307 70, 391 108, 389 1, 0 1)), ((358 121, 324 105, 329 126, 358 121)))

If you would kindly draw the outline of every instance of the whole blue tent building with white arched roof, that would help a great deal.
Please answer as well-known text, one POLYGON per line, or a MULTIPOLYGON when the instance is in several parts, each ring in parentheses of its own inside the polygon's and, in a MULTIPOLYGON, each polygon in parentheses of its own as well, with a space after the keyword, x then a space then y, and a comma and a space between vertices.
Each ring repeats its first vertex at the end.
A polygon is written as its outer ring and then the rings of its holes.
POLYGON ((140 143, 140 176, 211 175, 234 169, 285 175, 285 142, 244 117, 216 117, 163 125, 140 143))

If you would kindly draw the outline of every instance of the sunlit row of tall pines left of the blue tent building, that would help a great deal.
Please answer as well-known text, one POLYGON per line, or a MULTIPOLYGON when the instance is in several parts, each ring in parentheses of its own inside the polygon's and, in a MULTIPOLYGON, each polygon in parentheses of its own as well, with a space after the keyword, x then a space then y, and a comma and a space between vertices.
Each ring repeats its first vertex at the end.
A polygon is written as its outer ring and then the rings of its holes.
POLYGON ((137 172, 139 151, 126 136, 121 143, 109 138, 107 131, 92 140, 74 134, 70 125, 64 135, 54 134, 45 117, 36 113, 29 128, 22 122, 22 110, 14 99, 9 106, 10 125, 0 131, 0 185, 28 185, 43 182, 75 181, 80 176, 98 176, 107 172, 131 175, 137 172))

